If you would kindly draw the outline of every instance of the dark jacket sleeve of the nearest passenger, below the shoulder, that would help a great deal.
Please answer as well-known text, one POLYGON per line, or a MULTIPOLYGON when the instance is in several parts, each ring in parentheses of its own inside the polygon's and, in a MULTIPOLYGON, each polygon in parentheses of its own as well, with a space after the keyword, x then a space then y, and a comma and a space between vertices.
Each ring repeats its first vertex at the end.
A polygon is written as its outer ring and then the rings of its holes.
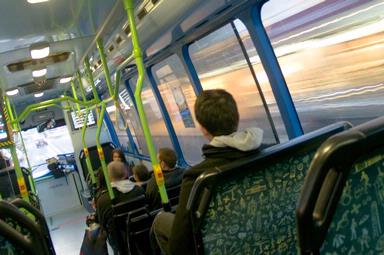
POLYGON ((169 254, 193 254, 192 226, 187 211, 187 202, 195 178, 184 176, 181 184, 179 205, 176 210, 175 220, 172 225, 172 232, 168 243, 169 254))

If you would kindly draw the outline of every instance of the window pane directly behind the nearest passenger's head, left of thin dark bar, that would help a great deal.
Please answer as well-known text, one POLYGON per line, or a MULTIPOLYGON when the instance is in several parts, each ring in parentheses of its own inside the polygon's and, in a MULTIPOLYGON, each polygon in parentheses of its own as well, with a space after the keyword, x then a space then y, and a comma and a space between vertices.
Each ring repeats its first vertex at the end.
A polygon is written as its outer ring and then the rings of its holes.
POLYGON ((265 106, 231 24, 194 42, 189 50, 203 89, 222 88, 234 96, 240 112, 239 129, 260 127, 264 142, 275 143, 265 106))

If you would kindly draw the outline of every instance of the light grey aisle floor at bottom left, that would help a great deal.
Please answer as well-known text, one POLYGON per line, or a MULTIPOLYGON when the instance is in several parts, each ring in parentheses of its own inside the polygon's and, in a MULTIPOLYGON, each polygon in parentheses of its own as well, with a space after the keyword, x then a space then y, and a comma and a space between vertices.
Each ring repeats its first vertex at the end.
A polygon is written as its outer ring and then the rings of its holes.
MULTIPOLYGON (((47 219, 52 242, 57 255, 78 255, 89 213, 82 207, 75 208, 47 219)), ((109 254, 113 254, 108 247, 109 254)))

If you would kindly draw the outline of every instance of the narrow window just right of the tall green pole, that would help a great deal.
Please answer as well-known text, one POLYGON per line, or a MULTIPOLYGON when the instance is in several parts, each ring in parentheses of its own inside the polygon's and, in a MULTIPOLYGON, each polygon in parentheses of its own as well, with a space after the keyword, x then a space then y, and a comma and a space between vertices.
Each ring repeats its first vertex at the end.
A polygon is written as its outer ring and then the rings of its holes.
MULTIPOLYGON (((137 75, 129 80, 129 84, 132 90, 136 88, 136 82, 137 75)), ((152 91, 152 88, 148 85, 147 77, 144 79, 141 99, 143 101, 144 111, 147 116, 149 129, 152 134, 156 151, 162 147, 173 148, 171 139, 169 138, 169 134, 164 123, 163 116, 160 111, 160 107, 157 104, 156 97, 152 91)), ((145 140, 143 142, 145 142, 145 140)))

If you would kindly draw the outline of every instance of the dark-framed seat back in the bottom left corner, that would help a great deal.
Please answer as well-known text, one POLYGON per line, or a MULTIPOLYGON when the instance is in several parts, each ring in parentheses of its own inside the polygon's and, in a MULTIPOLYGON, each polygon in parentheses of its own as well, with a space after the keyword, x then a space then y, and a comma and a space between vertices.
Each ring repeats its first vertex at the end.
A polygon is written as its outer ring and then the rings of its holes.
POLYGON ((43 214, 22 199, 0 201, 0 233, 1 254, 56 254, 43 214))

